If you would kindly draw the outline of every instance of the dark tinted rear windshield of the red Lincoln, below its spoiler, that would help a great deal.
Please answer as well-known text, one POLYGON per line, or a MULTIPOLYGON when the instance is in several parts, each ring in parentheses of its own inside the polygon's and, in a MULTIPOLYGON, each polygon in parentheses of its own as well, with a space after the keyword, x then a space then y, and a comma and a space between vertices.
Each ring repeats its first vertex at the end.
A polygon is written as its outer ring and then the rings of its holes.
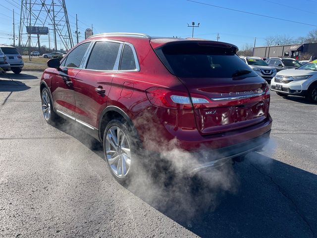
POLYGON ((206 43, 178 43, 155 50, 166 68, 179 77, 257 76, 231 48, 206 43))

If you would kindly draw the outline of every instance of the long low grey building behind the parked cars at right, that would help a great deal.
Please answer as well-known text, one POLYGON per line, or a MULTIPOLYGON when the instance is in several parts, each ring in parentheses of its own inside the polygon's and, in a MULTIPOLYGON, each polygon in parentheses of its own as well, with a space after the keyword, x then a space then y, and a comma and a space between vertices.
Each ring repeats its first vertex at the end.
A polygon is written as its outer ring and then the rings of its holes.
POLYGON ((261 58, 279 57, 294 58, 301 60, 301 56, 307 54, 317 58, 317 43, 284 45, 284 46, 264 46, 253 48, 253 56, 261 58))

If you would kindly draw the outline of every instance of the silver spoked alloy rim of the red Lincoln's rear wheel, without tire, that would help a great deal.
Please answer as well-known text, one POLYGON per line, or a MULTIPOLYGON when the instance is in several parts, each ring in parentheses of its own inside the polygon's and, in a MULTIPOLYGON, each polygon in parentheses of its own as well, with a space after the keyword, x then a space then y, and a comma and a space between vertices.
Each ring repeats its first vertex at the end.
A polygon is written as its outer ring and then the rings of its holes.
POLYGON ((118 126, 111 126, 106 133, 106 157, 113 174, 127 176, 131 166, 131 151, 127 135, 118 126))

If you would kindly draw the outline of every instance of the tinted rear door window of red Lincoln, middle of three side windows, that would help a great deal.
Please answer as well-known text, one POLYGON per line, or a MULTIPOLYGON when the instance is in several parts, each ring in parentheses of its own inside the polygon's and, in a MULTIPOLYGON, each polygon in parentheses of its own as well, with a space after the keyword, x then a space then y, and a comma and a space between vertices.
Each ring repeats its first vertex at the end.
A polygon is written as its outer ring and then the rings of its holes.
POLYGON ((119 47, 119 43, 106 41, 96 42, 86 68, 113 70, 115 61, 118 57, 119 47))

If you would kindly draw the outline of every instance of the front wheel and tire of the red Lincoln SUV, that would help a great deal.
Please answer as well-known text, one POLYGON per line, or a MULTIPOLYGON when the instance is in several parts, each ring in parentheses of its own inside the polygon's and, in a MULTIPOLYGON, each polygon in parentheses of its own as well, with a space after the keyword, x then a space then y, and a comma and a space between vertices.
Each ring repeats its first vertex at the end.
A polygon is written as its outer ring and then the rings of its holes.
POLYGON ((42 111, 44 119, 49 124, 55 124, 59 117, 55 114, 53 109, 53 101, 50 97, 50 92, 47 88, 44 88, 41 92, 41 99, 42 99, 42 111))

